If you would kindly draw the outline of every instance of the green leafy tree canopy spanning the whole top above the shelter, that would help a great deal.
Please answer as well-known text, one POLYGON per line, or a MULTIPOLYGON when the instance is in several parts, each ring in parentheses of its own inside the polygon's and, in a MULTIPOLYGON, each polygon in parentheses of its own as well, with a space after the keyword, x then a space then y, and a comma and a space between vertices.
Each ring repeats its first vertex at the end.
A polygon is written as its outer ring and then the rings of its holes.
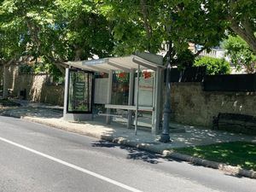
POLYGON ((25 56, 60 64, 136 50, 157 53, 164 42, 173 44, 172 56, 177 56, 189 43, 210 49, 228 32, 243 38, 255 53, 255 4, 253 0, 1 0, 0 59, 25 56))

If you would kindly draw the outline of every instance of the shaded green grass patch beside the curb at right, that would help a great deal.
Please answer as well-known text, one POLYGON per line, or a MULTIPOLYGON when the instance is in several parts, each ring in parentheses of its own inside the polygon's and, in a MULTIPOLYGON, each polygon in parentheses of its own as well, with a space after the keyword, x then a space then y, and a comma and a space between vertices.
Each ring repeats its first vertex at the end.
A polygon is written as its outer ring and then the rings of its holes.
POLYGON ((256 171, 256 143, 218 143, 193 148, 177 148, 175 151, 204 160, 212 160, 256 171))

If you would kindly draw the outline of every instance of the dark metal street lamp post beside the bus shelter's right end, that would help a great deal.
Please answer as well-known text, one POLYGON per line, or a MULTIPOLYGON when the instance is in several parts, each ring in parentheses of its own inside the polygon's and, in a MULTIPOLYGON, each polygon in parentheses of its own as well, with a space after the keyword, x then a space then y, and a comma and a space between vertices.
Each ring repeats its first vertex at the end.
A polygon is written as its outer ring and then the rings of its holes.
POLYGON ((170 69, 171 69, 171 51, 170 46, 172 44, 167 44, 167 67, 166 67, 166 102, 165 102, 165 108, 164 108, 164 122, 163 122, 163 128, 162 133, 160 135, 160 142, 161 143, 169 143, 170 135, 169 135, 169 119, 171 114, 171 104, 170 104, 170 93, 171 93, 171 83, 170 83, 170 69))

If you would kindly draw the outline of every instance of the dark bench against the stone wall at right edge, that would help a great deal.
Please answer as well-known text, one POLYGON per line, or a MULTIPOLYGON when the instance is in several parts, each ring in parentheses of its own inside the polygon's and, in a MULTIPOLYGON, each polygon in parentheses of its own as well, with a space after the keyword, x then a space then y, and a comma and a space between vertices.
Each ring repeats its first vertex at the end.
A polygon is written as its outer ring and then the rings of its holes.
POLYGON ((256 117, 239 113, 218 113, 217 117, 213 117, 212 129, 256 135, 256 117))

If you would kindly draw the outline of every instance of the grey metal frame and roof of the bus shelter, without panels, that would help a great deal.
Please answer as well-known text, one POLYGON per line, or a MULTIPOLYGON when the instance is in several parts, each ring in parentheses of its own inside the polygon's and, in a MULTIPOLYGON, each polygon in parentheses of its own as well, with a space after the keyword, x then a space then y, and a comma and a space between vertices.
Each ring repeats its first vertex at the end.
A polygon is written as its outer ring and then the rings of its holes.
MULTIPOLYGON (((123 57, 111 57, 104 59, 96 59, 90 61, 68 61, 67 65, 75 68, 82 69, 89 72, 108 73, 108 98, 105 108, 107 108, 106 120, 107 124, 110 124, 111 114, 110 109, 125 109, 128 110, 128 121, 127 127, 131 128, 132 125, 132 111, 135 111, 135 134, 137 134, 137 113, 138 111, 149 111, 152 112, 152 133, 159 133, 160 125, 160 97, 161 97, 161 86, 163 77, 163 57, 161 55, 153 55, 149 53, 137 53, 136 55, 129 55, 123 57), (139 89, 134 93, 135 87, 135 74, 139 74, 141 70, 151 69, 155 72, 154 78, 154 90, 153 90, 153 105, 152 107, 139 106, 136 102, 134 105, 134 96, 139 95, 139 89), (111 104, 112 96, 112 84, 113 84, 113 71, 123 71, 130 73, 129 81, 129 96, 128 105, 113 105, 111 104)), ((82 115, 82 114, 68 114, 67 113, 67 94, 68 94, 68 72, 69 68, 66 69, 66 84, 65 84, 65 96, 64 96, 64 119, 70 120, 70 115, 82 115), (65 110, 66 109, 66 110, 65 110)), ((138 77, 139 75, 137 75, 138 77)), ((137 78, 137 88, 139 87, 139 78, 137 78)), ((88 114, 87 114, 88 115, 88 114)), ((89 119, 92 118, 88 116, 89 119)))

